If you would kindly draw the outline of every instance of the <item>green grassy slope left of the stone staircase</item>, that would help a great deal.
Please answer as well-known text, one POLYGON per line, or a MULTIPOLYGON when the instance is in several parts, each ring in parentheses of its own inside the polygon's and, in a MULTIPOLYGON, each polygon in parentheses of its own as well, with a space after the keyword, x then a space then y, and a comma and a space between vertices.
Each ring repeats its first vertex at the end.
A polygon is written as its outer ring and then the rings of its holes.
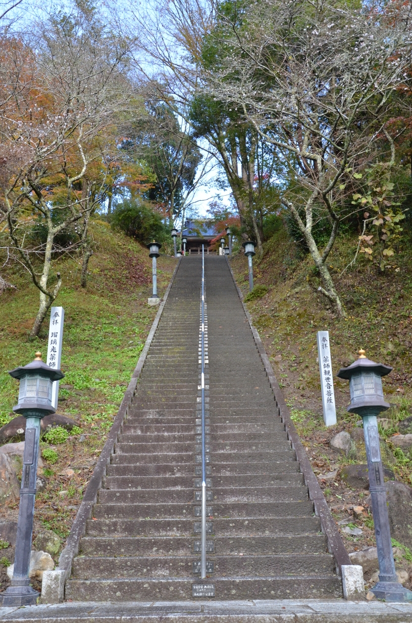
MULTIPOLYGON (((45 462, 47 489, 36 498, 34 536, 42 526, 63 539, 68 535, 157 311, 147 306, 151 293, 147 249, 123 234, 113 233, 103 221, 91 224, 91 234, 96 251, 90 260, 85 290, 80 287, 78 258, 66 256, 54 266, 63 278, 55 304, 65 309, 62 369, 66 376, 62 383, 67 386, 60 389, 57 411, 76 419, 86 440, 79 444, 79 435, 72 435, 62 444, 54 443, 59 459, 55 464, 45 462), (70 480, 59 475, 69 466, 75 470, 70 480)), ((161 256, 158 260, 161 296, 175 266, 173 257, 161 256)), ((3 276, 17 285, 17 290, 7 290, 0 297, 1 425, 13 417, 11 409, 18 394, 18 384, 7 370, 29 363, 38 349, 45 359, 49 332, 47 318, 40 337, 29 340, 39 304, 38 291, 17 267, 3 276)), ((9 503, 1 509, 1 516, 16 519, 17 510, 18 503, 9 503)), ((9 556, 7 550, 5 553, 9 556)))

